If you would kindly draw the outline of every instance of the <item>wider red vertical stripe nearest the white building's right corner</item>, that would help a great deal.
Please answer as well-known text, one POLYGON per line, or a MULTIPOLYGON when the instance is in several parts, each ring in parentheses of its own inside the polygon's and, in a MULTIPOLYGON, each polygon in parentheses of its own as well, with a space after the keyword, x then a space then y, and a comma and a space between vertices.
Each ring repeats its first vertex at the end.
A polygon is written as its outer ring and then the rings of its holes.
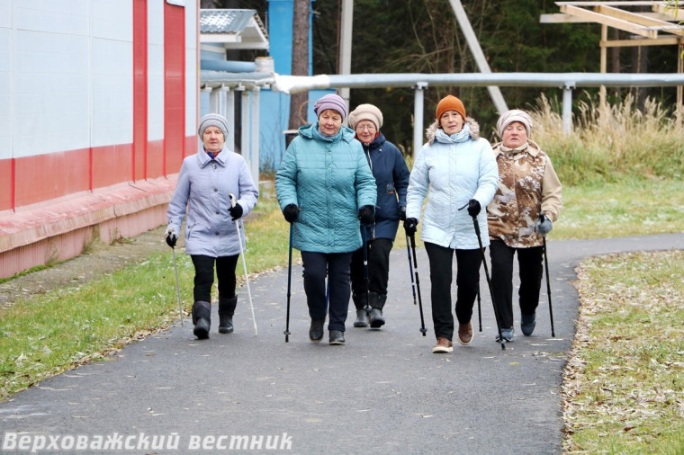
POLYGON ((185 133, 185 9, 164 4, 164 174, 180 170, 185 133))

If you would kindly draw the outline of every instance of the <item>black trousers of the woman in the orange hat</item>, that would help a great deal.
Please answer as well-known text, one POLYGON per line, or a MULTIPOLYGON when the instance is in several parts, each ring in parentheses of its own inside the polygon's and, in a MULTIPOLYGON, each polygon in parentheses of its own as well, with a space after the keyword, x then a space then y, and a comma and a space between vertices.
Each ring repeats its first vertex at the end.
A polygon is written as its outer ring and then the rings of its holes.
POLYGON ((425 243, 430 263, 432 290, 432 322, 435 336, 449 340, 454 336, 454 315, 452 314, 451 284, 452 262, 456 254, 456 318, 459 324, 467 324, 473 317, 473 304, 480 287, 480 249, 454 250, 452 248, 425 243))

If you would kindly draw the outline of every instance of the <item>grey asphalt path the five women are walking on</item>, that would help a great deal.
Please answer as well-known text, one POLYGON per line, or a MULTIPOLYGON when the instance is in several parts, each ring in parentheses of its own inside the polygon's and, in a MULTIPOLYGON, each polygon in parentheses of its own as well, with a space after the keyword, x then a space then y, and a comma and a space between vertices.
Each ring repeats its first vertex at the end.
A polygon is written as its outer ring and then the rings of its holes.
POLYGON ((234 334, 217 332, 214 305, 208 340, 196 340, 186 318, 184 327, 0 403, 0 451, 560 453, 562 373, 579 305, 575 266, 590 255, 672 248, 684 249, 684 234, 549 241, 555 336, 543 283, 534 335, 520 335, 515 308, 517 335, 505 350, 494 341, 482 270, 482 332, 476 306, 473 343, 455 343, 448 354, 431 352, 423 249, 427 336, 406 250, 392 251, 387 324, 354 328, 351 305, 344 346, 329 345, 327 334, 323 343, 309 341, 301 266, 293 267, 285 343, 287 270, 273 272, 250 284, 258 335, 241 288, 234 334))

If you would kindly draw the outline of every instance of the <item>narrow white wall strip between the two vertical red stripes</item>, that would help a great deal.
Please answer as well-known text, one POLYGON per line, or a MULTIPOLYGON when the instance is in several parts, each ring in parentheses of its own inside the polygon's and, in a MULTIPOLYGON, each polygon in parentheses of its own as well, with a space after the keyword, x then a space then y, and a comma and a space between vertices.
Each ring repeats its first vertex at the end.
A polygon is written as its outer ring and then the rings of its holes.
POLYGON ((148 1, 148 140, 164 138, 164 1, 148 1))

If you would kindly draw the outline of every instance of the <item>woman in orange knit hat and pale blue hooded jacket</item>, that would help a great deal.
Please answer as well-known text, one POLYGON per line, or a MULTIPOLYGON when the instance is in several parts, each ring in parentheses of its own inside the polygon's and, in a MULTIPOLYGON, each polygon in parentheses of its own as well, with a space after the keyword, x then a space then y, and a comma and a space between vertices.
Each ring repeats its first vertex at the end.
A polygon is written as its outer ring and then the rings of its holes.
POLYGON ((404 228, 412 236, 423 214, 420 238, 425 242, 432 284, 432 320, 437 344, 432 352, 451 352, 454 335, 451 283, 456 255, 456 317, 458 341, 473 340, 473 304, 480 282, 482 253, 473 218, 480 225, 482 245, 489 245, 487 207, 499 187, 499 167, 480 126, 465 116, 464 103, 447 95, 437 104, 437 120, 427 131, 428 143, 416 156, 410 174, 404 228), (429 192, 428 192, 429 190, 429 192), (460 210, 464 206, 468 210, 460 210))

